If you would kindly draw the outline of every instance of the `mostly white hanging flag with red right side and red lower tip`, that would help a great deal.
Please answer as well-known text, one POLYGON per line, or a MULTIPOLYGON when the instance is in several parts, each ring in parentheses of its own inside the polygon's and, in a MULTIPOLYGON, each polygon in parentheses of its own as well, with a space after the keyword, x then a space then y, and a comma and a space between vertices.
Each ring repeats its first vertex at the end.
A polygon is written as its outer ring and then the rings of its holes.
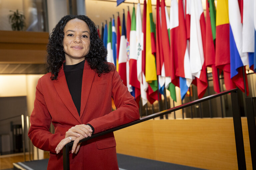
POLYGON ((202 98, 207 87, 205 66, 205 18, 201 0, 191 1, 190 68, 197 80, 197 95, 202 98))

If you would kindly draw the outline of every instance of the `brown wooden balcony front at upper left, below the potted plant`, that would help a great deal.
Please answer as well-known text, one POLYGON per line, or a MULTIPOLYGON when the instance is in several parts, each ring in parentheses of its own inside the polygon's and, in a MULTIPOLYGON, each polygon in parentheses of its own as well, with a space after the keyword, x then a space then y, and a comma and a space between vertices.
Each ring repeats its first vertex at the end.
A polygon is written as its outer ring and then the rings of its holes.
POLYGON ((45 63, 47 32, 0 31, 0 37, 0 63, 45 63))

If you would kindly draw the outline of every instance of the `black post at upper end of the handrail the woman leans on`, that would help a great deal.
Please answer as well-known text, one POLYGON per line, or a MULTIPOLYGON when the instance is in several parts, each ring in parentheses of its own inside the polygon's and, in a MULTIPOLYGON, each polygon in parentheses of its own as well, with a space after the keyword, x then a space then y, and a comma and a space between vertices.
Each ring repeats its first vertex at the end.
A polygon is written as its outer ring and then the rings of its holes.
POLYGON ((238 170, 246 170, 244 140, 237 91, 231 93, 238 170))

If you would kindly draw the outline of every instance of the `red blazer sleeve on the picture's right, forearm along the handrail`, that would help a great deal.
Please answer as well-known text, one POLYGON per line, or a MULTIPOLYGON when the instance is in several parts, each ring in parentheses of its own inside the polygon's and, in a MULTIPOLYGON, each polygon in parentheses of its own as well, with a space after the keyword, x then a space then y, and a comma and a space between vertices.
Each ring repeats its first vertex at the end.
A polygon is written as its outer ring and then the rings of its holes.
POLYGON ((117 109, 88 122, 93 126, 94 133, 115 128, 140 118, 137 103, 128 88, 123 84, 118 72, 114 69, 110 73, 112 75, 111 93, 117 109))

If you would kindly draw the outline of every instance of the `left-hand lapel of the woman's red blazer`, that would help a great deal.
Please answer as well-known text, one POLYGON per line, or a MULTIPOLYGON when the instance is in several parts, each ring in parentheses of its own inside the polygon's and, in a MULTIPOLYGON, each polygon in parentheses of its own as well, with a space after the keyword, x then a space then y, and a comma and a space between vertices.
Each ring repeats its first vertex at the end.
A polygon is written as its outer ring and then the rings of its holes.
POLYGON ((67 107, 69 112, 74 116, 74 118, 78 121, 79 124, 82 124, 82 121, 78 115, 76 106, 72 100, 71 94, 68 89, 65 73, 63 71, 63 65, 58 73, 57 80, 53 81, 54 87, 60 96, 62 102, 67 107))

